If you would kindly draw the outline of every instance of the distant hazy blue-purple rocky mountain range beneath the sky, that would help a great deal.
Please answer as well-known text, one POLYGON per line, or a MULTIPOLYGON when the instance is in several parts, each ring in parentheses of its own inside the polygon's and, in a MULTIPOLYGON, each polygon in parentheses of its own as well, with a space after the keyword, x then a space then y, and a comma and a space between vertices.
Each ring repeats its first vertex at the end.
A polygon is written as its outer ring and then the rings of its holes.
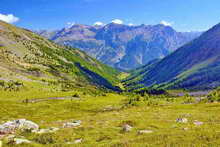
POLYGON ((75 24, 61 30, 37 33, 58 44, 79 48, 102 63, 121 70, 164 58, 201 34, 177 32, 162 24, 128 26, 116 23, 104 26, 75 24))

